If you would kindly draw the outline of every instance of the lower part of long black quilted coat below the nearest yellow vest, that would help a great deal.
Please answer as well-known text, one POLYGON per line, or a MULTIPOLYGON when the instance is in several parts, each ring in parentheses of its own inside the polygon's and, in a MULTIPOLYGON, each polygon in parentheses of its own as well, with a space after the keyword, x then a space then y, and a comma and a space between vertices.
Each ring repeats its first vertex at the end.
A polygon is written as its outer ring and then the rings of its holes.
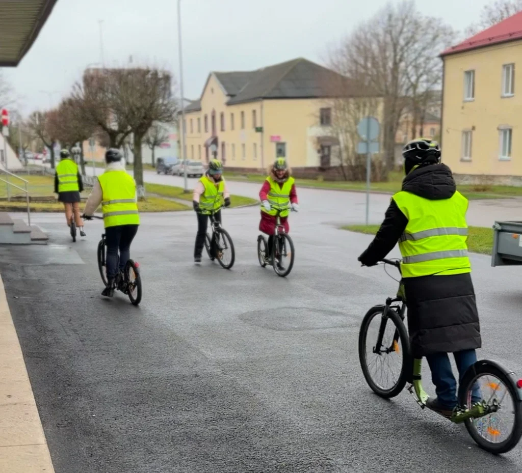
POLYGON ((470 273, 407 277, 402 282, 413 357, 481 347, 470 273))

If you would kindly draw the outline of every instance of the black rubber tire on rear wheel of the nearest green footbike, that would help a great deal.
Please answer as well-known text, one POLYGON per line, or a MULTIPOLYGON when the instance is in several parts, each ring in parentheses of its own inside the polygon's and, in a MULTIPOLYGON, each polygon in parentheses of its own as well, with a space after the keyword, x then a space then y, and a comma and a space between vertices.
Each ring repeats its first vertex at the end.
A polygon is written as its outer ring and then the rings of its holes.
POLYGON ((515 409, 515 422, 513 430, 509 434, 508 438, 501 443, 491 443, 485 440, 474 428, 473 419, 466 419, 464 425, 471 438, 481 447, 483 450, 499 455, 502 453, 509 452, 512 450, 520 441, 522 436, 522 401, 520 401, 518 388, 513 381, 513 378, 509 372, 501 367, 498 363, 490 360, 479 360, 472 365, 466 373, 459 386, 459 404, 461 407, 467 406, 468 392, 471 390, 472 385, 476 382, 478 375, 490 374, 495 378, 502 381, 509 394, 513 398, 513 407, 515 409))

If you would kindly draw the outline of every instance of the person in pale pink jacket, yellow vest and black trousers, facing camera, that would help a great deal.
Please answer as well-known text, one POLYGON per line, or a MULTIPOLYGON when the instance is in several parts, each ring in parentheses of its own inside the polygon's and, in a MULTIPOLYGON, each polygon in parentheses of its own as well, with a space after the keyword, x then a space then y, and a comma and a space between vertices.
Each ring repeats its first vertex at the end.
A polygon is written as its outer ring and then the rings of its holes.
MULTIPOLYGON (((227 183, 223 179, 223 166, 217 159, 213 159, 208 164, 208 170, 201 176, 192 194, 192 204, 197 213, 197 234, 194 245, 194 262, 201 262, 201 253, 207 235, 208 216, 212 210, 217 210, 222 205, 224 199, 225 207, 230 205, 230 193, 227 183)), ((214 214, 215 219, 221 222, 221 210, 214 214)), ((214 256, 216 248, 214 236, 212 235, 212 246, 210 254, 214 256)))

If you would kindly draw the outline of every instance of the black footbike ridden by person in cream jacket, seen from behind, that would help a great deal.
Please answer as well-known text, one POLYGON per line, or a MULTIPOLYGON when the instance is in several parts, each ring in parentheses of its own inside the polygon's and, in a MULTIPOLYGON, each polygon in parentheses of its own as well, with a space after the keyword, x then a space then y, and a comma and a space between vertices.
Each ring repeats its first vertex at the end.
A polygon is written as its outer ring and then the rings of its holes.
MULTIPOLYGON (((103 220, 103 217, 92 215, 94 219, 103 220)), ((105 287, 109 285, 107 278, 107 265, 106 265, 106 240, 105 234, 102 233, 101 240, 98 242, 97 259, 98 259, 98 270, 105 287)), ((141 302, 141 275, 139 273, 139 264, 133 259, 127 260, 125 263, 124 270, 120 270, 120 256, 118 255, 116 260, 116 267, 118 273, 116 274, 114 284, 116 289, 120 290, 123 294, 126 294, 131 301, 133 306, 138 306, 141 302), (131 274, 133 273, 133 274, 131 274), (134 275, 134 277, 133 277, 134 275)))

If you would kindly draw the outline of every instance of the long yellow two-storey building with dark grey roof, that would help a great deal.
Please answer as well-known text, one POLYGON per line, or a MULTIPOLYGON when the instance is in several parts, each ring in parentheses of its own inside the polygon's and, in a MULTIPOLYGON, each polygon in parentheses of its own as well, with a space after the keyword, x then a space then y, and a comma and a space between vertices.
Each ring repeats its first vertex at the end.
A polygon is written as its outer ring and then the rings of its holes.
POLYGON ((208 162, 211 146, 231 171, 265 169, 277 156, 294 171, 335 166, 331 108, 336 72, 298 58, 255 71, 211 72, 185 107, 186 157, 208 162))

